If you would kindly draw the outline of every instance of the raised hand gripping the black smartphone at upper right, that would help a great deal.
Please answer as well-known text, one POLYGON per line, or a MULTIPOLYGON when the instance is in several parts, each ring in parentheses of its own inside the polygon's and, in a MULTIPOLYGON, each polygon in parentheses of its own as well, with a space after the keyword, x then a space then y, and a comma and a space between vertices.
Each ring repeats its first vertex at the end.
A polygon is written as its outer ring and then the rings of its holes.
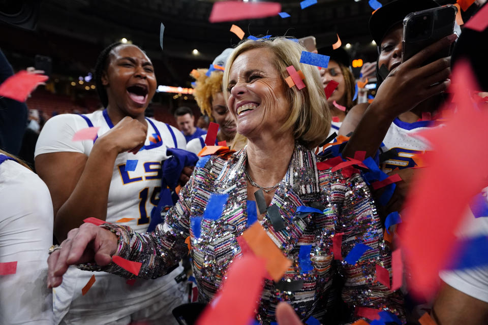
POLYGON ((374 106, 393 120, 426 99, 445 91, 450 84, 450 57, 438 59, 425 66, 422 64, 448 47, 456 38, 455 34, 447 36, 393 69, 379 87, 371 108, 374 106))

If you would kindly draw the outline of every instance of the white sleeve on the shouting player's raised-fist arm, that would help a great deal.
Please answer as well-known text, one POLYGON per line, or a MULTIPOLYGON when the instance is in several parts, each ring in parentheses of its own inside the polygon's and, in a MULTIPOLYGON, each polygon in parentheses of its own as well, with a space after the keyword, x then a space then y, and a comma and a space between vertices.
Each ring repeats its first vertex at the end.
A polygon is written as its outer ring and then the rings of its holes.
POLYGON ((60 114, 51 117, 42 128, 36 143, 34 157, 42 153, 59 151, 87 153, 93 146, 92 140, 71 141, 74 134, 88 127, 86 121, 75 114, 60 114))

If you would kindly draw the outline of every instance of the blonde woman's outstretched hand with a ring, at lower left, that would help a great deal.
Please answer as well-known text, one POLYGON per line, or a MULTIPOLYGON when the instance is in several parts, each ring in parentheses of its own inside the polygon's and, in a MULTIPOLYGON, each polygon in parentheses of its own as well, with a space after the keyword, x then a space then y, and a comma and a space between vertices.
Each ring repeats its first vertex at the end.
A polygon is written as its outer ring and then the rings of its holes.
POLYGON ((61 243, 61 249, 52 252, 47 259, 48 287, 60 285, 70 265, 94 261, 99 266, 110 264, 117 244, 114 233, 92 223, 83 223, 80 228, 72 229, 61 243))

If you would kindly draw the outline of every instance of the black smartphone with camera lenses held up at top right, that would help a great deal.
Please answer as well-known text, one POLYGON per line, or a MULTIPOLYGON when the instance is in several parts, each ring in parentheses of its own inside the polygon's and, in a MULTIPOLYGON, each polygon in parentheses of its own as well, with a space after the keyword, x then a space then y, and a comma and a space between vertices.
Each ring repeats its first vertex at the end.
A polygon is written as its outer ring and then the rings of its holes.
MULTIPOLYGON (((454 31, 457 8, 446 5, 408 14, 403 20, 402 62, 454 31)), ((424 64, 451 55, 452 45, 436 53, 424 64)))

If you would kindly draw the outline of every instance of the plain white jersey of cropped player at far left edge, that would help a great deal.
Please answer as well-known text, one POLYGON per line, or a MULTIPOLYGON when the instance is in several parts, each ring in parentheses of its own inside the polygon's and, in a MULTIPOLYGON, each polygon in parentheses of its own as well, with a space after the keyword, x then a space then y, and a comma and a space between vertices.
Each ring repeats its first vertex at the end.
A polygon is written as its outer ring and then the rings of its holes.
POLYGON ((17 262, 0 275, 0 324, 52 324, 47 257, 53 212, 46 184, 32 171, 0 155, 0 263, 17 262))

